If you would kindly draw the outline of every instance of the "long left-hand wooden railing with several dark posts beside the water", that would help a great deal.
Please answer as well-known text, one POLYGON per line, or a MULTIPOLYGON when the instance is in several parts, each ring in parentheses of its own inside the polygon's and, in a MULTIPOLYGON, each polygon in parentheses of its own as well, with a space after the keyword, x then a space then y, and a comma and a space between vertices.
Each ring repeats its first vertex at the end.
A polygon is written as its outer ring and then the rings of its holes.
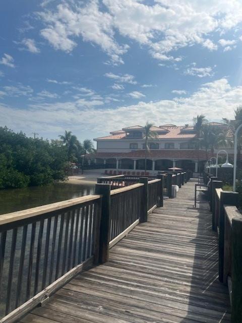
POLYGON ((4 214, 0 217, 0 323, 18 320, 93 263, 163 205, 163 179, 4 214), (4 317, 3 317, 4 316, 4 317))

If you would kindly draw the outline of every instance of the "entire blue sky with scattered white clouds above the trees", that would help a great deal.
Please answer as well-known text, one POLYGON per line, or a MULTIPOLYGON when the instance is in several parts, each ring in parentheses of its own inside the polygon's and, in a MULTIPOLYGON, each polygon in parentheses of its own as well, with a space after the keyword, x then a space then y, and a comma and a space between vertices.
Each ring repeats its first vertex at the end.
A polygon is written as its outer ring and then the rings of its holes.
POLYGON ((80 140, 242 103, 241 0, 2 0, 0 126, 80 140))

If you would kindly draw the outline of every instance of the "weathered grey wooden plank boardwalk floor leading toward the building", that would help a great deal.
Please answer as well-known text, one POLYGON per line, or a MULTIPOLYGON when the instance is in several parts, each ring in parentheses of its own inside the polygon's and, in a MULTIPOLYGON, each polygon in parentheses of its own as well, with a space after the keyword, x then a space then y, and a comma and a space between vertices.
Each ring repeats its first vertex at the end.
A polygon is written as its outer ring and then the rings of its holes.
POLYGON ((114 246, 107 263, 78 275, 20 321, 230 322, 211 213, 207 204, 193 204, 191 181, 114 246))

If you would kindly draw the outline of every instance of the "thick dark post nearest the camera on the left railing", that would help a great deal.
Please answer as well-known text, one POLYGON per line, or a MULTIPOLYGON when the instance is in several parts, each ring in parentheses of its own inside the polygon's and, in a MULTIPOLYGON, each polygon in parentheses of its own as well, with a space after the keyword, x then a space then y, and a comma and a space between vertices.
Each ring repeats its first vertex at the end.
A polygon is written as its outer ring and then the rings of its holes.
POLYGON ((95 194, 102 195, 99 263, 108 261, 109 256, 109 227, 110 227, 110 185, 96 184, 95 194))

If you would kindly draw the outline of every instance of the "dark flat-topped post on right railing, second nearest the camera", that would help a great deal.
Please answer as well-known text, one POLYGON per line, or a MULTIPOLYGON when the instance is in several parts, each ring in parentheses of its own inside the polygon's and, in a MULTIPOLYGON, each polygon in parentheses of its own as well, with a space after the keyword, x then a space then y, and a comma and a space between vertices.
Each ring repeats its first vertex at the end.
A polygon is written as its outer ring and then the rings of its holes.
POLYGON ((219 238, 218 238, 218 276, 221 283, 224 282, 224 205, 238 205, 237 192, 221 192, 219 205, 219 238))

